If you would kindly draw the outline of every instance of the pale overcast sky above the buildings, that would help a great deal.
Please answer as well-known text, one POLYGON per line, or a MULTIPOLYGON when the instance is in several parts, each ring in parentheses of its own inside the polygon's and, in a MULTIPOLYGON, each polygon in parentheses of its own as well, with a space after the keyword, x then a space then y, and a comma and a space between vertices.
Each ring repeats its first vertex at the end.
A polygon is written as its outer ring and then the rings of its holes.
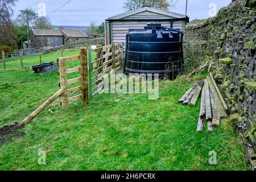
MULTIPOLYGON (((19 10, 31 7, 40 13, 46 5, 46 15, 53 13, 70 0, 19 0, 14 8, 14 17, 19 10), (44 3, 44 4, 42 4, 44 3), (39 8, 39 5, 41 8, 39 8)), ((101 24, 110 16, 124 13, 123 3, 126 0, 71 0, 67 5, 61 7, 55 13, 49 15, 53 25, 58 26, 88 26, 90 22, 96 21, 101 24)), ((228 5, 231 0, 188 0, 188 16, 190 20, 209 17, 209 11, 228 5), (214 4, 211 4, 214 3, 214 4), (209 7, 210 5, 210 7, 209 7)), ((175 8, 170 11, 185 14, 185 0, 177 0, 175 8)), ((214 11, 213 11, 214 12, 214 11)))

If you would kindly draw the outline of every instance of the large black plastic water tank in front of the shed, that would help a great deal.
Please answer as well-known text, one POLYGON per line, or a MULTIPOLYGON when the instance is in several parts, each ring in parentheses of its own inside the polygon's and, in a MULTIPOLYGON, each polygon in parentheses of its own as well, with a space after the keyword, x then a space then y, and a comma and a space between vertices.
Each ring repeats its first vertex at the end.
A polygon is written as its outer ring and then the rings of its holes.
POLYGON ((126 35, 125 73, 158 73, 175 76, 182 72, 183 32, 161 24, 147 24, 144 30, 126 35))

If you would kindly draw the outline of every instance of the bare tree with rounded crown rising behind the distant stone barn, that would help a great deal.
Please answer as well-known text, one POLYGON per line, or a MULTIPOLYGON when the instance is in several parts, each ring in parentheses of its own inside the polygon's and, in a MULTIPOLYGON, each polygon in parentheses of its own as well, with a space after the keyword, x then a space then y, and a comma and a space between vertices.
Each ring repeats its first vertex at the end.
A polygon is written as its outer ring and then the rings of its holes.
POLYGON ((15 19, 15 23, 18 26, 27 27, 27 40, 28 48, 30 48, 30 27, 35 23, 35 20, 38 18, 38 14, 35 13, 31 8, 26 8, 24 10, 19 10, 19 15, 15 19))

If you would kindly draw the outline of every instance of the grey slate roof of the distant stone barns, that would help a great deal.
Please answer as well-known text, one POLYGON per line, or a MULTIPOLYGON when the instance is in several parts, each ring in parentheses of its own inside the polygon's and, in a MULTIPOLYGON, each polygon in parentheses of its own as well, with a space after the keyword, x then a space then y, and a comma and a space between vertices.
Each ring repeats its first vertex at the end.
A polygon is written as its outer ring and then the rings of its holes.
POLYGON ((60 30, 60 29, 33 29, 35 36, 68 36, 69 38, 88 38, 80 30, 60 30))

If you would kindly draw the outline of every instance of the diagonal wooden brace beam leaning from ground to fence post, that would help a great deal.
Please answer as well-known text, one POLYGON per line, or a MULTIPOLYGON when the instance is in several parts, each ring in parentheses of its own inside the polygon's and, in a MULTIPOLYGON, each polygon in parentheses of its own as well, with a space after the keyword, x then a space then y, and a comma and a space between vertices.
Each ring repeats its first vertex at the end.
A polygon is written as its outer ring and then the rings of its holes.
POLYGON ((36 109, 33 113, 31 113, 30 115, 28 115, 28 117, 26 119, 24 119, 22 122, 19 123, 19 126, 24 126, 26 125, 28 122, 30 122, 32 119, 34 119, 38 114, 40 114, 44 109, 46 109, 46 107, 51 104, 53 101, 55 101, 58 97, 61 96, 61 94, 64 93, 63 89, 60 89, 58 92, 56 92, 55 94, 53 94, 52 97, 48 98, 48 100, 46 102, 44 102, 41 106, 38 107, 38 109, 36 109))

